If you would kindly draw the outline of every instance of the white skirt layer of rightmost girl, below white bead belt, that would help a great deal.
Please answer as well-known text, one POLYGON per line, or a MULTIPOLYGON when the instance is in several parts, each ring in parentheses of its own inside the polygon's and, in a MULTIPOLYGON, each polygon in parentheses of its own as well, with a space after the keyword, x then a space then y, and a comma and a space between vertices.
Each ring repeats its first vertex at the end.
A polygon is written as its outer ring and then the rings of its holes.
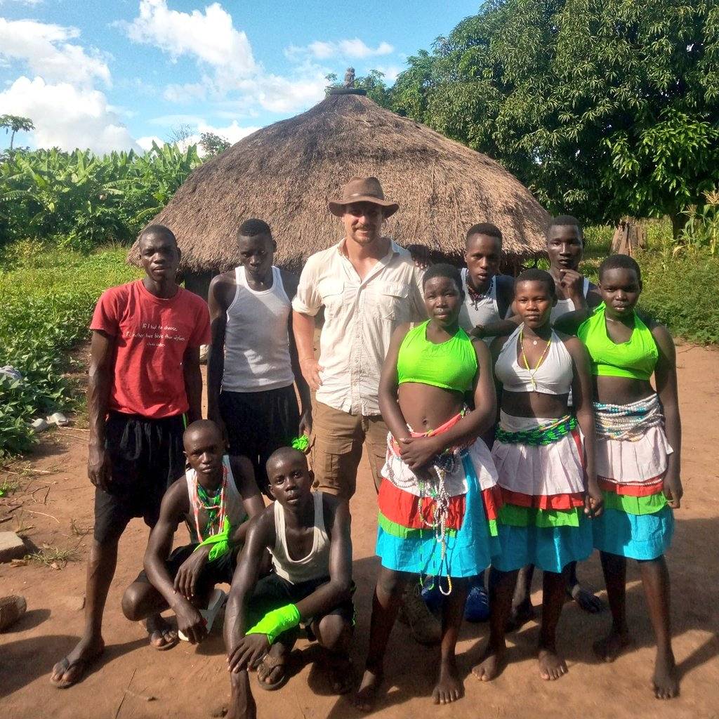
POLYGON ((597 437, 596 470, 599 477, 622 484, 644 484, 667 471, 667 456, 674 450, 660 426, 650 427, 636 442, 597 437))

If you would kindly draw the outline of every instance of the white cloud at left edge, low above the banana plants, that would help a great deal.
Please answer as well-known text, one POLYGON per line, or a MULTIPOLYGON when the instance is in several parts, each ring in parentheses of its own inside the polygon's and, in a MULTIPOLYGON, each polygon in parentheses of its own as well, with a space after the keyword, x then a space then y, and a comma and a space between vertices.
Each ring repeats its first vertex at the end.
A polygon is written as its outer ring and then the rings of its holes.
POLYGON ((98 90, 22 76, 0 92, 0 107, 10 114, 32 118, 37 147, 88 147, 99 155, 139 149, 98 90))

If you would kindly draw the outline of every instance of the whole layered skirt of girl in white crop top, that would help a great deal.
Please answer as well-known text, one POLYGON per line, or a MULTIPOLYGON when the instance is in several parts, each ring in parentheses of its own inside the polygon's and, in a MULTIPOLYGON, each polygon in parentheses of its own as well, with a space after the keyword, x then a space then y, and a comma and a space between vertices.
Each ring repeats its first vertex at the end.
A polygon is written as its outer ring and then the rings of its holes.
POLYGON ((562 572, 592 554, 584 513, 582 437, 572 416, 515 417, 502 412, 492 458, 503 505, 498 513, 501 572, 534 564, 562 572))

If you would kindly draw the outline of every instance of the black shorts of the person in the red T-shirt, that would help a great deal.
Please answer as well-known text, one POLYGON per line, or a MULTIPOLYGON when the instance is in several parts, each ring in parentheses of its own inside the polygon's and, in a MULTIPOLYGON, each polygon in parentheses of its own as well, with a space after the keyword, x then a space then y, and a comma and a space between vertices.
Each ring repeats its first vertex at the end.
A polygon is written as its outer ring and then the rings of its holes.
POLYGON ((111 480, 107 492, 99 487, 95 490, 96 541, 117 541, 133 517, 155 526, 165 491, 185 473, 184 431, 181 414, 163 419, 109 414, 105 447, 111 480))

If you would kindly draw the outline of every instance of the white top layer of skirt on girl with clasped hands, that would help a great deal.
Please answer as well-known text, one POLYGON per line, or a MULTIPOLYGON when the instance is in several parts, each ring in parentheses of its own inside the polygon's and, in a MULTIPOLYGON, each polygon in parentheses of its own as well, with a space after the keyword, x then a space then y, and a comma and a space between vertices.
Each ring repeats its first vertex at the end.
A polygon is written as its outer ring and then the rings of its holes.
MULTIPOLYGON (((420 480, 417 475, 397 457, 391 447, 392 434, 387 435, 387 456, 385 464, 382 467, 382 476, 386 480, 416 497, 421 497, 419 490, 420 480)), ((487 445, 477 437, 475 441, 466 449, 470 455, 472 464, 475 467, 477 479, 480 480, 480 490, 487 490, 497 484, 497 470, 495 469, 492 455, 487 445)), ((436 477, 434 470, 430 470, 432 475, 436 477)), ((434 479, 433 477, 433 479, 434 479)), ((426 486, 426 480, 423 482, 426 486)), ((454 461, 454 471, 447 472, 444 475, 444 486, 450 497, 456 497, 467 493, 467 477, 464 475, 464 467, 462 467, 462 459, 457 457, 454 461)), ((426 494, 426 492, 425 492, 426 494)))

